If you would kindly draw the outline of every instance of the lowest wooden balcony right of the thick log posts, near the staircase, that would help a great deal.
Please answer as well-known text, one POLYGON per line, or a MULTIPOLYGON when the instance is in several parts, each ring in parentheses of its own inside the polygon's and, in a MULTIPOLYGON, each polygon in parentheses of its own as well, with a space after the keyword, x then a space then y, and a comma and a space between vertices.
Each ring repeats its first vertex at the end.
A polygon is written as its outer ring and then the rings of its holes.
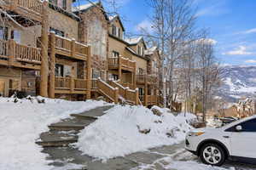
POLYGON ((73 77, 55 77, 55 94, 86 94, 87 81, 73 77))

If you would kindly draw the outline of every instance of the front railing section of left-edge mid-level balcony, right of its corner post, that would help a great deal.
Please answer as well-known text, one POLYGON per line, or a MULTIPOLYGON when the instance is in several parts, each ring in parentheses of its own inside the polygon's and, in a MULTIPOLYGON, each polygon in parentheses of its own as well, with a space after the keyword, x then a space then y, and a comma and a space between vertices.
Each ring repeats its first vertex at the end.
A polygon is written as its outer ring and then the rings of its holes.
POLYGON ((19 61, 41 63, 41 49, 15 44, 15 58, 19 61))

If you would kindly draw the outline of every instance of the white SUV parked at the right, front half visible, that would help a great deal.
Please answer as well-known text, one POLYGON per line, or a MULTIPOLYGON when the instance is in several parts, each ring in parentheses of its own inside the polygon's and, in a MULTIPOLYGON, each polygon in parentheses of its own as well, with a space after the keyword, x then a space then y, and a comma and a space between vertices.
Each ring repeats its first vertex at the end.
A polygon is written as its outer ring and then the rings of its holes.
POLYGON ((186 136, 186 150, 206 164, 221 166, 226 159, 256 162, 256 116, 219 128, 198 128, 186 136))

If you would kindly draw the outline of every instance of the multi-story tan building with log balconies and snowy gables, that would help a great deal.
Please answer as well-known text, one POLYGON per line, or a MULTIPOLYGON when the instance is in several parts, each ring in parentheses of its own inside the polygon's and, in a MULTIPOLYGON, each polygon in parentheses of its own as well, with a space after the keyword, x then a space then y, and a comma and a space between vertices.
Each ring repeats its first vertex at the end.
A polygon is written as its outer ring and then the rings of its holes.
POLYGON ((102 3, 73 7, 74 2, 3 0, 0 94, 103 95, 157 105, 159 50, 147 48, 143 37, 125 39, 119 16, 108 16, 102 3))

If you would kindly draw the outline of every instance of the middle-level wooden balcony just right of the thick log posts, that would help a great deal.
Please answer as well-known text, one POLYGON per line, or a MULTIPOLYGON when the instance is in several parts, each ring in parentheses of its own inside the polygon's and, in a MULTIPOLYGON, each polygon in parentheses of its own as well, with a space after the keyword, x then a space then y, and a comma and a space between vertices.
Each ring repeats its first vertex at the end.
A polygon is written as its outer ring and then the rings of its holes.
MULTIPOLYGON (((38 44, 40 44, 40 39, 41 38, 38 40, 38 44)), ((88 46, 67 37, 50 34, 49 50, 50 48, 55 48, 55 54, 60 54, 72 59, 87 60, 88 46), (51 41, 55 42, 52 43, 51 41)))

